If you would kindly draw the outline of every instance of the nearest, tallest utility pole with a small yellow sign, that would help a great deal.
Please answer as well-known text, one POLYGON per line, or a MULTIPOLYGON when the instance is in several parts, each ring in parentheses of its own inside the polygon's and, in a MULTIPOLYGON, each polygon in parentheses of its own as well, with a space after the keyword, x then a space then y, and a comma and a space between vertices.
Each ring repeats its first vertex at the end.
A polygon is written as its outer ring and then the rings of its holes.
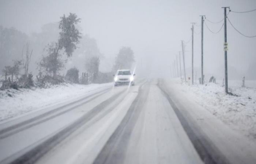
POLYGON ((228 93, 227 86, 227 8, 224 8, 224 51, 225 51, 225 92, 228 93))

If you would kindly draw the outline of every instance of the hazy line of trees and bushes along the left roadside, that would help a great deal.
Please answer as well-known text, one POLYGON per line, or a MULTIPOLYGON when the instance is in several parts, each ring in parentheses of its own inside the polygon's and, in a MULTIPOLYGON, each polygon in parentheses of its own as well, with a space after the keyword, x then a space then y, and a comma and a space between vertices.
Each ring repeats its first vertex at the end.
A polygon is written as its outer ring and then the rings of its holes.
MULTIPOLYGON (((77 67, 68 69, 65 75, 60 73, 65 68, 67 60, 71 60, 74 55, 79 59, 78 63, 83 65, 84 75, 85 72, 88 75, 86 83, 112 81, 112 73, 99 71, 103 55, 95 39, 80 33, 80 21, 75 13, 69 13, 68 16, 60 17, 59 23, 46 24, 42 27, 41 33, 33 33, 31 36, 15 28, 0 26, 0 69, 4 77, 2 82, 0 80, 0 89, 44 87, 46 83, 79 83, 81 80, 77 67), (45 48, 42 50, 43 46, 45 48), (43 55, 39 57, 38 54, 43 55), (38 69, 36 78, 33 78, 30 71, 31 64, 34 67, 34 63, 37 63, 38 69)), ((112 72, 117 69, 131 69, 134 61, 132 49, 122 47, 116 55, 112 72)))

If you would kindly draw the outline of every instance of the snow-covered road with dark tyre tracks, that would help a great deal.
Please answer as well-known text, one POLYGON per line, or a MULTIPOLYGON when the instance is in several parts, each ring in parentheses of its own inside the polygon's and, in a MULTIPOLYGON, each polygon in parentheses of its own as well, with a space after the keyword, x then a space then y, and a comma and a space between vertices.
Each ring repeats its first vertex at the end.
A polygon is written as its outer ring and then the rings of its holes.
POLYGON ((0 123, 0 163, 255 163, 256 144, 145 79, 0 123))

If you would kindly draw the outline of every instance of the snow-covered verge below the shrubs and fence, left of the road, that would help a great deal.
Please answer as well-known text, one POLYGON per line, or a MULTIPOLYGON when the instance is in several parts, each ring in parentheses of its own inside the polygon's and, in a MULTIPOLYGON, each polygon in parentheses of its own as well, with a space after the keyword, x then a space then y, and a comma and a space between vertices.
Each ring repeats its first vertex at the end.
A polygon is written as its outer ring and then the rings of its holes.
POLYGON ((111 87, 105 84, 61 84, 49 88, 9 89, 0 91, 0 121, 34 110, 75 101, 87 93, 111 87))

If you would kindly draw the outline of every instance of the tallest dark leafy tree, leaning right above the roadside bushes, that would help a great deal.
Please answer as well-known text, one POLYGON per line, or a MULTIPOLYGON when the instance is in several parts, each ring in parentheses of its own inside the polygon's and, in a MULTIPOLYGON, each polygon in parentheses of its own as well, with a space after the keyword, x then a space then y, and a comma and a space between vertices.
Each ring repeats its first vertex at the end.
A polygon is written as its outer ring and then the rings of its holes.
POLYGON ((47 55, 43 56, 39 62, 40 70, 44 70, 48 75, 52 74, 53 78, 64 67, 64 60, 61 58, 60 51, 63 50, 68 58, 70 58, 81 38, 81 33, 76 28, 80 19, 77 18, 75 13, 69 13, 68 17, 63 15, 60 19, 59 29, 61 31, 59 39, 57 42, 46 46, 45 52, 47 55))

